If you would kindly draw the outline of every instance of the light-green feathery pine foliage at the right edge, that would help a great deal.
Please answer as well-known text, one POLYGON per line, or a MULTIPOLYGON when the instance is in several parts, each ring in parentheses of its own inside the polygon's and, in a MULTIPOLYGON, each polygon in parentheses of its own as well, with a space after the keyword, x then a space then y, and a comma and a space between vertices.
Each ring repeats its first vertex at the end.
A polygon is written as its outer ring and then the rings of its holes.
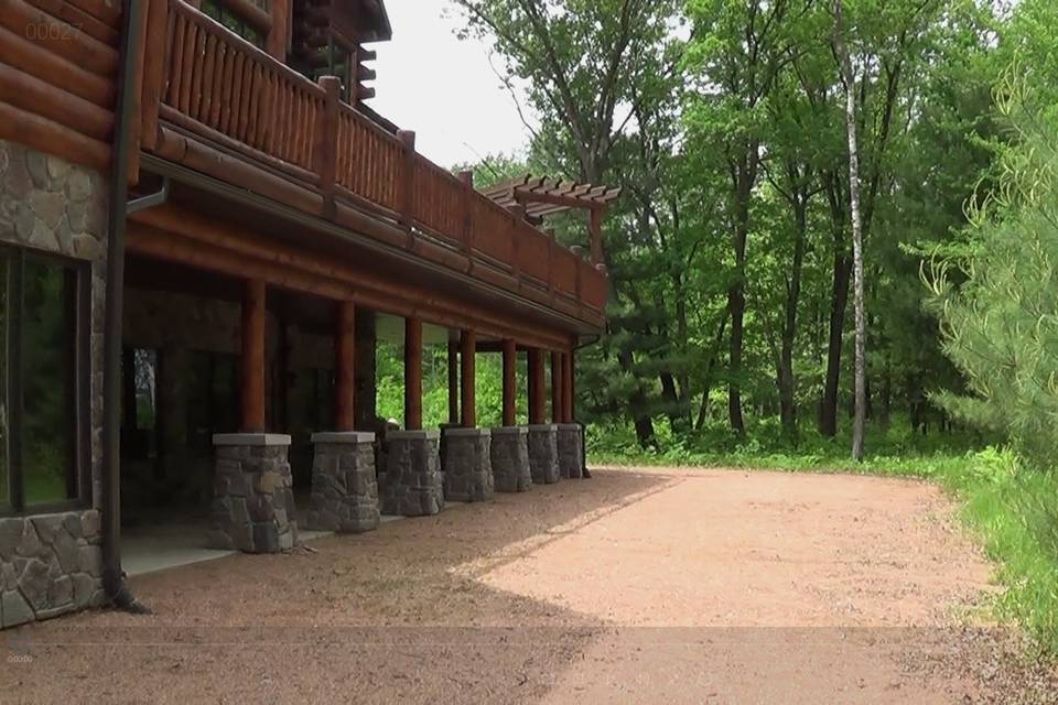
MULTIPOLYGON (((1008 93, 1023 95, 1017 85, 1008 93)), ((1058 463, 1058 129, 1021 99, 1005 104, 1016 144, 976 212, 970 248, 938 258, 930 283, 943 349, 970 394, 941 392, 954 415, 1058 463)))

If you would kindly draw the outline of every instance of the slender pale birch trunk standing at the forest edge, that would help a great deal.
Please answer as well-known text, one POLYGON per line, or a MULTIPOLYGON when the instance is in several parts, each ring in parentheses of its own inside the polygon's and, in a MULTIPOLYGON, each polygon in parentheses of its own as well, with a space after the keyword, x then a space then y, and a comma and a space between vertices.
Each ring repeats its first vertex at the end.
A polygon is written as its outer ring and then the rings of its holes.
POLYGON ((860 212, 860 148, 856 138, 856 90, 852 58, 841 23, 842 0, 834 0, 834 50, 841 62, 845 84, 845 124, 849 132, 849 200, 852 206, 852 303, 856 319, 855 412, 852 425, 852 459, 863 460, 863 432, 867 412, 866 386, 866 315, 863 303, 863 219, 860 212))

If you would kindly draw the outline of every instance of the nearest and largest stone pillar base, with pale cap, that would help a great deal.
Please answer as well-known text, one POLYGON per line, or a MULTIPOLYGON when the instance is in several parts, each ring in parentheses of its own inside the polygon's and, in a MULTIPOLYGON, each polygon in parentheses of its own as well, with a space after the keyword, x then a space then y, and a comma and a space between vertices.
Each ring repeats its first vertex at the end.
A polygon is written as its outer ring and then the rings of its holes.
POLYGON ((230 433, 213 437, 216 468, 209 545, 279 553, 298 543, 290 436, 230 433))

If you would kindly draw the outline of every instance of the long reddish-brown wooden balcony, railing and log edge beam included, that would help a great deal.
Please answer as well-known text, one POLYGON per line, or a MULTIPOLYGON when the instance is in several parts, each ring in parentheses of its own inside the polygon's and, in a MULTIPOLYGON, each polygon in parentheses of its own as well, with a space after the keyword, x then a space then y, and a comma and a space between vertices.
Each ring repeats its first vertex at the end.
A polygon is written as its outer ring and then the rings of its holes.
MULTIPOLYGON (((603 268, 182 0, 150 0, 143 154, 176 162, 601 325, 603 268)), ((133 174, 137 165, 133 164, 133 174)))

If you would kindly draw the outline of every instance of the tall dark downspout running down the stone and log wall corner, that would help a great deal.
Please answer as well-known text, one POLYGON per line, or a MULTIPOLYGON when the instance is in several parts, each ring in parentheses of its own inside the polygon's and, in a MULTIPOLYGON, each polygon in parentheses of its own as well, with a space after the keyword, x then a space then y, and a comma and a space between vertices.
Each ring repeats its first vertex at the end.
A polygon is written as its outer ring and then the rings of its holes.
POLYGON ((104 315, 102 371, 102 589, 120 609, 142 614, 125 585, 121 571, 121 322, 125 290, 125 225, 128 199, 129 142, 136 90, 136 30, 143 2, 125 3, 121 32, 120 90, 115 108, 107 218, 107 288, 104 315))

